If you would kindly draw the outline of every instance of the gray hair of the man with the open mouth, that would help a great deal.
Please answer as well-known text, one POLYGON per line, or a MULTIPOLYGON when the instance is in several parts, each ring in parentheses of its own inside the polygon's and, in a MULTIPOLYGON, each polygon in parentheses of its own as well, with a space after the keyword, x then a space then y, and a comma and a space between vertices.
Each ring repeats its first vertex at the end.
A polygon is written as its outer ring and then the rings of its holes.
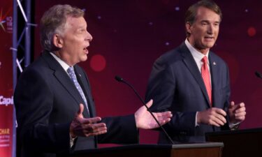
POLYGON ((48 9, 40 22, 41 45, 44 50, 55 49, 52 38, 55 33, 62 34, 66 24, 66 17, 84 17, 85 12, 70 5, 56 5, 48 9))

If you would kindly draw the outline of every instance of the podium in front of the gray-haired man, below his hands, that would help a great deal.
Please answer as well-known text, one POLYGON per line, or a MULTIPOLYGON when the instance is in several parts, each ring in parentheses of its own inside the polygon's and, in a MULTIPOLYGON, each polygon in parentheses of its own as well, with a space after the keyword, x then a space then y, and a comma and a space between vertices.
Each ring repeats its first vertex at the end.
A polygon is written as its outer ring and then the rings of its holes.
POLYGON ((223 143, 134 144, 77 151, 72 157, 221 157, 223 143))

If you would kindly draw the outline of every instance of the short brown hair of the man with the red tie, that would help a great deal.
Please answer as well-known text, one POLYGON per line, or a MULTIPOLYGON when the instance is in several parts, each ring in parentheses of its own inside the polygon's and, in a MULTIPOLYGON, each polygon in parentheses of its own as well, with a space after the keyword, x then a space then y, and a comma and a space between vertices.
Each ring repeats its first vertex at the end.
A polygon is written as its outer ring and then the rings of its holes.
MULTIPOLYGON (((187 24, 187 22, 189 22, 190 24, 193 24, 196 20, 196 12, 198 10, 199 7, 205 7, 205 8, 209 8, 210 10, 213 10, 214 13, 217 13, 217 15, 220 16, 220 22, 222 20, 222 12, 221 9, 219 8, 219 6, 217 6, 217 3, 214 3, 214 1, 212 0, 202 0, 202 1, 198 1, 196 3, 194 3, 192 6, 190 6, 187 10, 187 13, 185 15, 184 18, 184 23, 187 24)), ((187 32, 187 36, 190 35, 189 32, 187 32)))

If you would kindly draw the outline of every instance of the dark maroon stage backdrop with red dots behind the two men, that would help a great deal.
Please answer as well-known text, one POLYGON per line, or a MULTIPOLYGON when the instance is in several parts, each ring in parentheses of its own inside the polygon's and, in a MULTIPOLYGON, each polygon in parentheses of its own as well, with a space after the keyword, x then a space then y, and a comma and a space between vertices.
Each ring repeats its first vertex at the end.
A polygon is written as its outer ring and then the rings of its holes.
MULTIPOLYGON (((35 1, 35 22, 54 4, 85 9, 88 31, 94 40, 88 60, 80 63, 92 85, 98 115, 132 114, 142 104, 133 91, 115 81, 121 75, 145 96, 152 64, 164 52, 185 40, 184 13, 196 1, 178 0, 46 0, 35 1)), ((219 38, 212 48, 229 66, 231 100, 245 102, 247 119, 240 128, 262 127, 262 2, 217 1, 223 12, 219 38)), ((35 29, 35 57, 41 52, 35 29)), ((141 143, 156 143, 157 132, 140 131, 141 143)))

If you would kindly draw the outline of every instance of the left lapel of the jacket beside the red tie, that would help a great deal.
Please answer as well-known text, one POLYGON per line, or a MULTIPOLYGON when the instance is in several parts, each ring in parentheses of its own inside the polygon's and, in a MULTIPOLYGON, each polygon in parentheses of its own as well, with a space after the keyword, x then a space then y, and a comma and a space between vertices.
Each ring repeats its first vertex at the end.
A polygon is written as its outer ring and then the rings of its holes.
POLYGON ((201 91, 203 95, 205 96, 205 100, 208 103, 208 107, 210 107, 210 100, 208 98, 208 92, 205 89, 205 84, 203 82, 202 76, 200 71, 198 70, 198 66, 196 65, 196 61, 194 60, 191 52, 187 48, 187 46, 183 43, 180 45, 180 50, 178 50, 181 54, 182 57, 184 57, 183 61, 186 64, 187 68, 191 72, 191 74, 194 76, 196 82, 198 82, 199 86, 201 87, 201 91))

